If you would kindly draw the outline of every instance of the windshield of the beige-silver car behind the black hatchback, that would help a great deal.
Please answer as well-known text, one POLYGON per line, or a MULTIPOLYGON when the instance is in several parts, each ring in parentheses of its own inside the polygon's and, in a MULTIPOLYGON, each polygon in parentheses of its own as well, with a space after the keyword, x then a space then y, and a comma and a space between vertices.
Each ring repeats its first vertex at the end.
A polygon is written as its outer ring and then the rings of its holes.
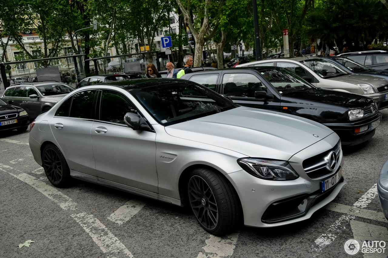
POLYGON ((347 72, 343 71, 338 65, 335 65, 326 60, 309 59, 306 61, 301 61, 301 63, 306 65, 320 77, 325 79, 348 74, 347 72))

